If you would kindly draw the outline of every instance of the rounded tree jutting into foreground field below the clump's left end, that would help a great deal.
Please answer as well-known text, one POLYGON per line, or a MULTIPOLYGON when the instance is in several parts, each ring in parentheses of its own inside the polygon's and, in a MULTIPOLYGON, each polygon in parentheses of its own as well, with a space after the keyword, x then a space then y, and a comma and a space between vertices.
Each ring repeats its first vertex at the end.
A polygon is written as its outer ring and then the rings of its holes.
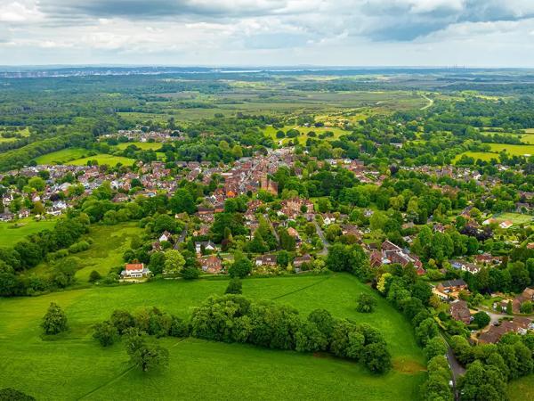
POLYGON ((148 344, 146 335, 136 328, 128 329, 125 338, 126 352, 130 362, 148 372, 169 362, 169 351, 156 344, 148 344))

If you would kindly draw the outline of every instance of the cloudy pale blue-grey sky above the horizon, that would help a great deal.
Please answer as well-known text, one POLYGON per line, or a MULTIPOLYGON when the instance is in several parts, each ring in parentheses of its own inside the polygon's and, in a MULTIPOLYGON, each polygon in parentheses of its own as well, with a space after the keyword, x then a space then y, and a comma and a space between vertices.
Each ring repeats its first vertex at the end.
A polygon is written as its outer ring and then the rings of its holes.
POLYGON ((534 0, 0 0, 0 65, 534 67, 534 0))

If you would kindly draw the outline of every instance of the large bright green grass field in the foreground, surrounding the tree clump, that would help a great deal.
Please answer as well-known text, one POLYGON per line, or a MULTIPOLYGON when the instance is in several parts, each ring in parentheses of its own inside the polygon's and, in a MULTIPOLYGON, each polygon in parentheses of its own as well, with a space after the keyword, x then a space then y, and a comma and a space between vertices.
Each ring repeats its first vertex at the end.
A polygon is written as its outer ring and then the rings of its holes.
POLYGON ((392 352, 394 368, 384 376, 330 356, 195 339, 159 340, 169 349, 170 366, 142 374, 130 369, 122 344, 101 348, 91 338, 93 323, 115 308, 158 306, 186 317, 210 294, 222 294, 227 283, 156 281, 0 299, 0 388, 13 387, 39 399, 418 398, 425 359, 409 323, 349 274, 247 279, 243 293, 292 305, 303 314, 325 307, 336 317, 372 324, 384 333, 392 352), (355 312, 361 291, 378 300, 375 313, 355 312), (66 311, 70 330, 43 340, 38 325, 51 301, 66 311))

